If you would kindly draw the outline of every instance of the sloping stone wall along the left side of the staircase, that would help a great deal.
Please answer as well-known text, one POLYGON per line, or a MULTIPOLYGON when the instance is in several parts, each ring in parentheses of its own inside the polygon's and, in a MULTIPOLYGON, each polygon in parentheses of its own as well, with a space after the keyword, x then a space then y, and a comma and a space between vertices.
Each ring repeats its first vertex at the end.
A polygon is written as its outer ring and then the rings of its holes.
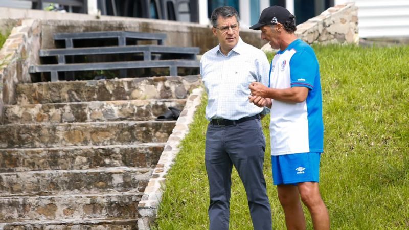
POLYGON ((0 123, 3 105, 15 103, 16 84, 31 81, 29 66, 39 63, 39 48, 39 21, 18 21, 0 50, 0 123))

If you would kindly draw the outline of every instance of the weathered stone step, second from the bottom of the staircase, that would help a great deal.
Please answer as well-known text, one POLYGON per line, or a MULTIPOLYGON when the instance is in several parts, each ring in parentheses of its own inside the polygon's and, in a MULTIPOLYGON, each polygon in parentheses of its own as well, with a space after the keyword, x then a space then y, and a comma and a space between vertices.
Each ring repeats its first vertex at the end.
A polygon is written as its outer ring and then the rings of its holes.
POLYGON ((143 193, 0 197, 0 222, 138 216, 143 193))

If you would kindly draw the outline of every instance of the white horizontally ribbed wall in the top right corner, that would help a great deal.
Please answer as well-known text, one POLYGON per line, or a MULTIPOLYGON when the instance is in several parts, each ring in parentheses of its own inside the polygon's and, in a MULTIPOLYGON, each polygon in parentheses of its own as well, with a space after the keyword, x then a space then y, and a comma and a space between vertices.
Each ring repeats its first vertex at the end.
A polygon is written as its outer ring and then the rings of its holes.
MULTIPOLYGON (((335 0, 335 4, 350 2, 335 0)), ((356 0, 361 38, 409 37, 409 0, 356 0)))

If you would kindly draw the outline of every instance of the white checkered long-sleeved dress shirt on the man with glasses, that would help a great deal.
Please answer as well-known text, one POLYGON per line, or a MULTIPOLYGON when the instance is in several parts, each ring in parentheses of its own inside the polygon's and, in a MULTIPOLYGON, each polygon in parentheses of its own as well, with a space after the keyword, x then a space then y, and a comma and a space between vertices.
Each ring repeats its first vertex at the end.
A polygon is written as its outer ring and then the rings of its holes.
POLYGON ((219 47, 203 54, 200 60, 200 74, 208 93, 206 119, 238 120, 267 114, 268 108, 248 101, 250 83, 258 81, 268 85, 270 65, 264 52, 241 38, 228 55, 219 47))

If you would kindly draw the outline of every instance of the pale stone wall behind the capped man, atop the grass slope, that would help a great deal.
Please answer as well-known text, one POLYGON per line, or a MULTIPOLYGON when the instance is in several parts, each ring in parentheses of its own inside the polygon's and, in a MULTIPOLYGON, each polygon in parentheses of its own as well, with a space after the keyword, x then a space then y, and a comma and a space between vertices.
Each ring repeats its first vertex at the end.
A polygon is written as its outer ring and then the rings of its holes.
MULTIPOLYGON (((309 44, 358 44, 358 7, 354 2, 330 7, 298 25, 296 35, 309 44)), ((273 52, 269 44, 261 49, 273 52)))

